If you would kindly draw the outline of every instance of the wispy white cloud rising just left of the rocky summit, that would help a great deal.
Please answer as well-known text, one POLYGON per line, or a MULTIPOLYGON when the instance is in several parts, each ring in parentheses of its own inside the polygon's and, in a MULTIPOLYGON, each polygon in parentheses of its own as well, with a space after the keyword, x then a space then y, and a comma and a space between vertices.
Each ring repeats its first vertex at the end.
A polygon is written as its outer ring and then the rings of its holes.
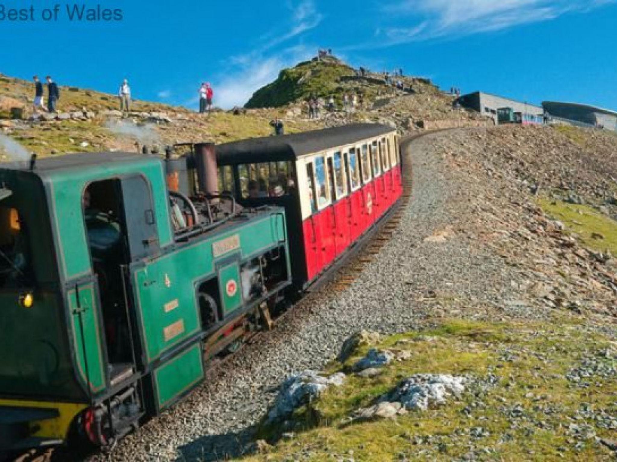
POLYGON ((231 71, 216 86, 215 100, 218 106, 231 108, 244 105, 257 89, 276 79, 281 68, 310 57, 312 52, 302 45, 287 46, 282 51, 271 52, 292 39, 299 39, 323 20, 313 0, 289 3, 288 8, 289 22, 286 28, 263 36, 262 43, 252 51, 230 58, 227 65, 231 71))

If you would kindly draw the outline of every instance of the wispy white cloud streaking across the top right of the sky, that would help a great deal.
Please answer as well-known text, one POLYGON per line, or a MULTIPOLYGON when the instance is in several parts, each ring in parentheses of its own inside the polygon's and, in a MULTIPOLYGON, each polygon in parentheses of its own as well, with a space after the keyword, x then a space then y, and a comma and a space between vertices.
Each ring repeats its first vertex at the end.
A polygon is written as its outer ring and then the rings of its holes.
MULTIPOLYGON (((376 30, 367 47, 505 30, 585 12, 617 0, 399 0, 383 8, 397 26, 376 30), (409 26, 401 22, 412 23, 409 26)), ((364 47, 363 45, 357 47, 364 47)))

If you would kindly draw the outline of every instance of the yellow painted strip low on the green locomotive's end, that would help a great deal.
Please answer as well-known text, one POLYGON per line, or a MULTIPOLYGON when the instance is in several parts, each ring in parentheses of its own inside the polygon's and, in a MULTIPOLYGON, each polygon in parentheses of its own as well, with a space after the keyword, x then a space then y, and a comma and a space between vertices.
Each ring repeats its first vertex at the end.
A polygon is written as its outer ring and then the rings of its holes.
POLYGON ((85 404, 77 403, 54 403, 12 399, 0 399, 0 406, 56 409, 59 416, 51 419, 33 420, 30 422, 30 428, 36 429, 31 436, 54 440, 65 440, 67 438, 68 429, 73 423, 75 417, 88 407, 85 404))

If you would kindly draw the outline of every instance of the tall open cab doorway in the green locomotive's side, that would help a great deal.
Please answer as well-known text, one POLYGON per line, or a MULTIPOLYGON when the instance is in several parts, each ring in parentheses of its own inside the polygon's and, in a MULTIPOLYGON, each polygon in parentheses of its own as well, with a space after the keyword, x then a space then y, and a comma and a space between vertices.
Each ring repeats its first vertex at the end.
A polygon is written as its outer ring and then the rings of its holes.
POLYGON ((114 386, 136 371, 125 268, 158 249, 152 198, 143 177, 107 179, 88 185, 82 206, 114 386))

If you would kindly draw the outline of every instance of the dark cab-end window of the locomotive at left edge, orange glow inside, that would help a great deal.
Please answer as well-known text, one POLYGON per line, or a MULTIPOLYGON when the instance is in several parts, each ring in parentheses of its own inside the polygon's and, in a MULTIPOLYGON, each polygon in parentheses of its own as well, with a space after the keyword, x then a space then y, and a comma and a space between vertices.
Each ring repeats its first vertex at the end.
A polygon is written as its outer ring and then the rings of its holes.
POLYGON ((17 209, 0 206, 0 288, 18 288, 32 274, 25 223, 17 209))

